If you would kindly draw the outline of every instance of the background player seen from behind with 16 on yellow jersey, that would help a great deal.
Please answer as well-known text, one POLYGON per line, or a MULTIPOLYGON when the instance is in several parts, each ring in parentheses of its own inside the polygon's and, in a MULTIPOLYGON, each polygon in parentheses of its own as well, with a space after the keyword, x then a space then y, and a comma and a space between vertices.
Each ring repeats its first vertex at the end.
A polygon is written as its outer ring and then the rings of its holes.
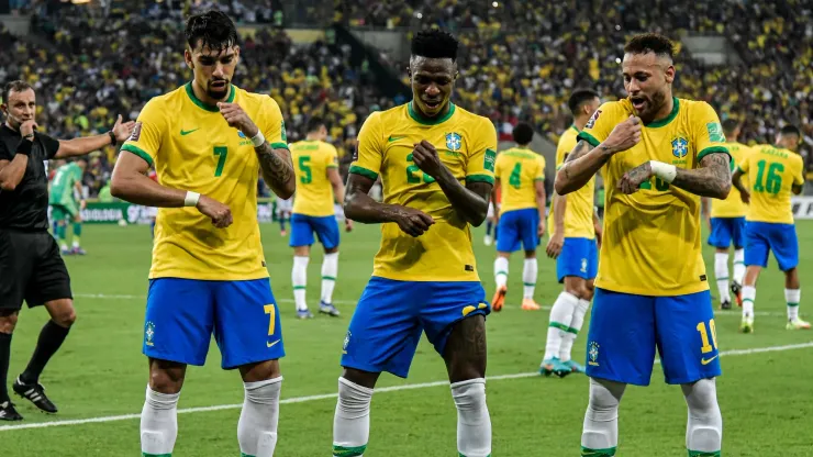
POLYGON ((801 282, 799 282, 799 239, 793 224, 791 193, 802 193, 804 160, 797 153, 802 134, 794 125, 783 126, 776 145, 764 145, 739 163, 732 180, 743 201, 750 203, 745 228, 746 274, 743 283, 744 333, 754 332, 754 300, 757 279, 768 266, 768 253, 777 258, 784 271, 784 300, 788 303, 788 330, 808 330, 809 322, 799 317, 801 282), (748 176, 749 188, 742 177, 748 176))

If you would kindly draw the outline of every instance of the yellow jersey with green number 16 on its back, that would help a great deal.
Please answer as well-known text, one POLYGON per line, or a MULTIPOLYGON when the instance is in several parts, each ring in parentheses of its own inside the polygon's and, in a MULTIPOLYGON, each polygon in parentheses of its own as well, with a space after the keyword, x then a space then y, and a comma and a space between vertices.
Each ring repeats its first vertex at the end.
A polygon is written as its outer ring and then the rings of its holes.
POLYGON ((750 183, 748 221, 792 224, 791 188, 804 183, 804 160, 799 154, 778 146, 753 149, 739 169, 750 183))

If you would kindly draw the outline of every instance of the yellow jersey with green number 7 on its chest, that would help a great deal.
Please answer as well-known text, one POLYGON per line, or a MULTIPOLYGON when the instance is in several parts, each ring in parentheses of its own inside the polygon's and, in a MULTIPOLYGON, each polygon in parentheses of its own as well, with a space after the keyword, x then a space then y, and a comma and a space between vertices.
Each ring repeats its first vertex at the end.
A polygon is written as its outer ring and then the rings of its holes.
MULTIPOLYGON (((287 148, 282 113, 270 97, 232 86, 240 104, 275 148, 287 148)), ((163 186, 229 205, 234 223, 216 228, 196 208, 159 208, 149 278, 249 280, 268 277, 257 225, 259 163, 252 141, 187 83, 142 110, 122 151, 155 165, 163 186)))

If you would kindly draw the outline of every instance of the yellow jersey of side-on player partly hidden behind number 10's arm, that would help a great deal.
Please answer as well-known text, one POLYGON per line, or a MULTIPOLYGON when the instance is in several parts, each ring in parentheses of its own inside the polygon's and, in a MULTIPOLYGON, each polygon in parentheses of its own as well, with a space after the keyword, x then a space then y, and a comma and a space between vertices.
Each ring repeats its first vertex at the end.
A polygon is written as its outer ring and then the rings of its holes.
MULTIPOLYGON (((579 130, 570 125, 559 138, 556 146, 556 169, 561 167, 565 158, 578 143, 579 130)), ((557 197, 558 198, 558 197, 557 197)), ((595 226, 593 225, 593 205, 595 202, 595 178, 577 190, 567 194, 567 207, 565 207, 565 237, 566 238, 595 238, 595 226)), ((547 226, 553 236, 556 233, 554 222, 554 208, 552 205, 547 216, 547 226)))

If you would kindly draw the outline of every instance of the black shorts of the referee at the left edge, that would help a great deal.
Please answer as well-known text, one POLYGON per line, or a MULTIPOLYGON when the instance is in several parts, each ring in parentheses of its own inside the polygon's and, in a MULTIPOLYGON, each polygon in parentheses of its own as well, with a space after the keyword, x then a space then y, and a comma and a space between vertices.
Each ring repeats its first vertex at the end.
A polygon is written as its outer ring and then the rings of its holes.
POLYGON ((48 232, 0 228, 0 310, 73 299, 59 246, 48 232))

